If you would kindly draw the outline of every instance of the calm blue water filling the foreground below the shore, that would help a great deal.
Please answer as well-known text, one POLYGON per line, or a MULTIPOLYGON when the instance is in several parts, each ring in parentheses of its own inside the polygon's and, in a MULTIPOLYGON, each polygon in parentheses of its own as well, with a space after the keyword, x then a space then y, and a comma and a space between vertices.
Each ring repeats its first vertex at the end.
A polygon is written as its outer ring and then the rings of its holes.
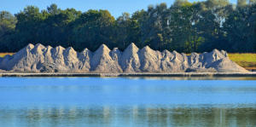
POLYGON ((0 78, 0 126, 256 126, 254 78, 181 79, 0 78))

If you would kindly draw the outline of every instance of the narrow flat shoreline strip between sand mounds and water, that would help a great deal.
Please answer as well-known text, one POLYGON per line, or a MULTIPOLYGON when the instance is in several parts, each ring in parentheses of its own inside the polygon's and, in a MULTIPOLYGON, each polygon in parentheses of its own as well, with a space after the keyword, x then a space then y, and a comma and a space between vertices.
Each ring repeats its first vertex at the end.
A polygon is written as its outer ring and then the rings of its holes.
POLYGON ((256 77, 256 72, 0 73, 1 77, 256 77))

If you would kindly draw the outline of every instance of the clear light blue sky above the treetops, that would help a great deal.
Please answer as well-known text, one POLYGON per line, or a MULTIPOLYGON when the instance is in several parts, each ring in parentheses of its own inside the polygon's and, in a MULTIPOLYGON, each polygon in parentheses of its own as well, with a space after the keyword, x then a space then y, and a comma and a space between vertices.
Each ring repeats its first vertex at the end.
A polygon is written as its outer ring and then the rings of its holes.
MULTIPOLYGON (((195 1, 198 0, 189 0, 189 2, 195 1)), ((16 14, 28 5, 46 9, 51 3, 56 3, 61 9, 74 8, 82 12, 88 9, 108 9, 117 18, 124 12, 132 14, 137 10, 147 9, 150 4, 166 3, 170 7, 173 2, 174 0, 0 0, 0 11, 6 10, 16 14)))

